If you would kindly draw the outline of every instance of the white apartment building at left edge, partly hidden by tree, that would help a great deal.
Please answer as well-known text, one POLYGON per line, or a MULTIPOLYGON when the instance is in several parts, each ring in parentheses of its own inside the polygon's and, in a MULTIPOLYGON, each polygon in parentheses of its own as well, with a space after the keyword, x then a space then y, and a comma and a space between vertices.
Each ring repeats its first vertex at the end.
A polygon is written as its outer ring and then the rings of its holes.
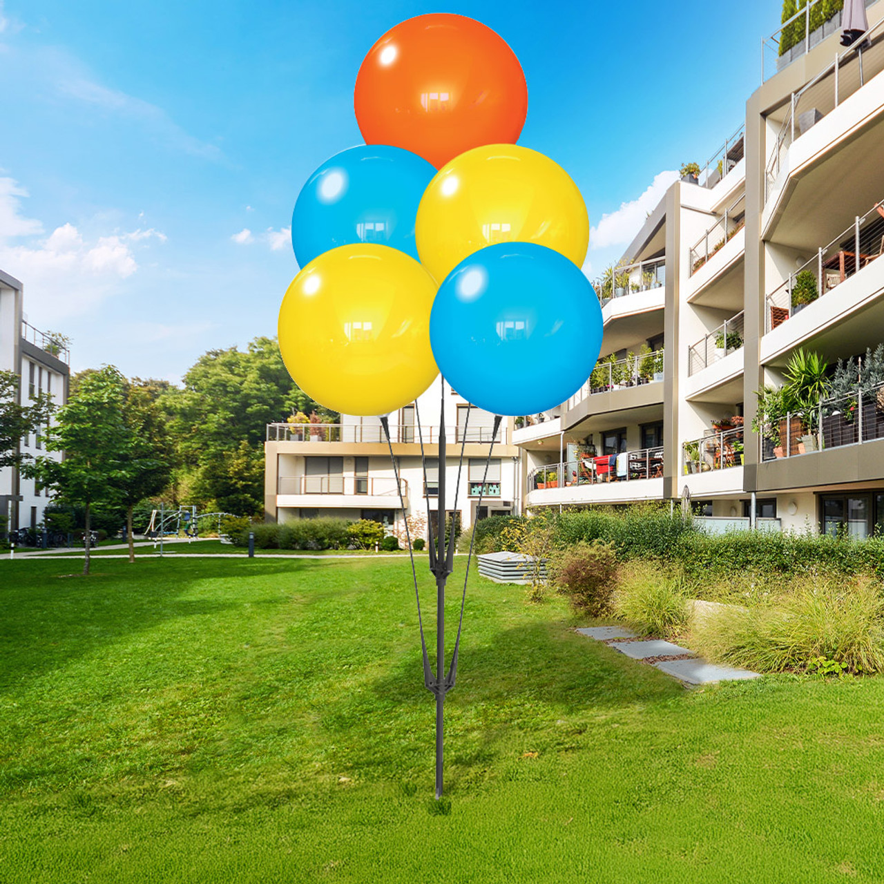
MULTIPOLYGON (((18 279, 0 271, 0 370, 19 376, 19 401, 37 392, 47 392, 56 406, 67 401, 70 353, 63 339, 29 324, 23 312, 24 286, 18 279)), ((23 438, 20 450, 32 455, 61 458, 60 452, 46 452, 41 434, 23 438)), ((43 510, 50 502, 50 491, 19 470, 0 469, 0 513, 9 517, 11 530, 35 530, 43 521, 43 510)))

